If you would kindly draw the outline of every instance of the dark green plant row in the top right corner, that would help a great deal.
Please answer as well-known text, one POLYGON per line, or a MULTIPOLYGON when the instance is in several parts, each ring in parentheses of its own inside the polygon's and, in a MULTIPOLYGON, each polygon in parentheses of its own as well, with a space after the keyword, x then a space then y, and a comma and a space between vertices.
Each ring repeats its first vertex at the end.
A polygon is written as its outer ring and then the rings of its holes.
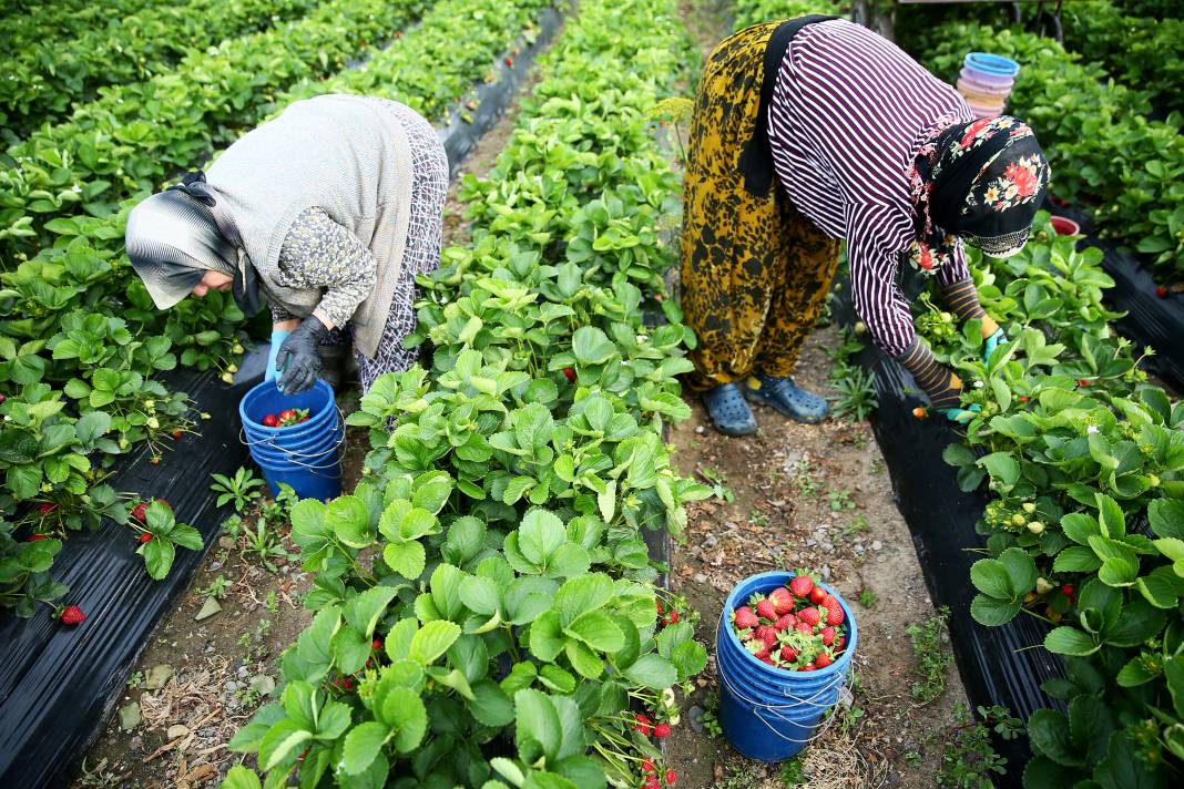
POLYGON ((1131 17, 1109 0, 1062 9, 1066 47, 1101 63, 1164 111, 1184 111, 1184 20, 1131 17))

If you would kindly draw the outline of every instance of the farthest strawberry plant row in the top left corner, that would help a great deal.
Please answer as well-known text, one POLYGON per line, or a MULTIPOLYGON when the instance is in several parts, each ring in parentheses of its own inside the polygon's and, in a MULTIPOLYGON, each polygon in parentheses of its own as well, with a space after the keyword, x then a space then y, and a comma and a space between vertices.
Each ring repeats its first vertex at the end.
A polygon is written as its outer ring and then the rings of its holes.
POLYGON ((71 105, 90 102, 104 85, 162 73, 189 52, 303 17, 316 5, 315 0, 192 0, 78 27, 69 38, 39 35, 40 17, 21 17, 11 33, 13 48, 0 80, 0 123, 7 142, 59 121, 71 105))

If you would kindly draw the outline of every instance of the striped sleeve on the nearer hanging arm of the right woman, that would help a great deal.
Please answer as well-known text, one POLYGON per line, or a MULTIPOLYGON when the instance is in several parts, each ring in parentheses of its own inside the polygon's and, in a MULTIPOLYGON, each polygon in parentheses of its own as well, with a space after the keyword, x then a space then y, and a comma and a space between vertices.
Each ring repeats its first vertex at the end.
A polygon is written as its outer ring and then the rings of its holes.
MULTIPOLYGON (((851 297, 871 339, 890 356, 900 356, 916 329, 908 302, 896 284, 900 253, 884 238, 894 216, 884 206, 863 205, 848 212, 847 256, 851 297)), ((890 235, 890 232, 888 233, 890 235)))

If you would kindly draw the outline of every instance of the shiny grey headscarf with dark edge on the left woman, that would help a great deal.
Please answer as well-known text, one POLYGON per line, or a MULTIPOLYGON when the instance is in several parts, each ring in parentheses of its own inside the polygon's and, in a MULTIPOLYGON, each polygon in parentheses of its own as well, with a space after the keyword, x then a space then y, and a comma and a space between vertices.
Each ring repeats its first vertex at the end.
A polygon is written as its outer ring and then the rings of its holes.
POLYGON ((152 195, 128 214, 128 258, 157 309, 188 296, 205 272, 220 271, 234 278, 239 308, 246 315, 259 311, 255 270, 245 260, 239 265, 238 248, 218 229, 213 202, 208 190, 194 195, 182 186, 152 195))

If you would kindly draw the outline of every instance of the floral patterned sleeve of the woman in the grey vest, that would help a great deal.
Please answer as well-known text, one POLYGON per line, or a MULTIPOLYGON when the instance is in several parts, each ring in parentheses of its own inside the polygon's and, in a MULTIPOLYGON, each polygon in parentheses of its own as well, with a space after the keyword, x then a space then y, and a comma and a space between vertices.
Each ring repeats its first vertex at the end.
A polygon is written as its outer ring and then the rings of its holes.
POLYGON ((279 284, 322 289, 316 309, 335 326, 353 317, 377 280, 378 264, 366 245, 315 206, 296 218, 279 248, 279 284))

